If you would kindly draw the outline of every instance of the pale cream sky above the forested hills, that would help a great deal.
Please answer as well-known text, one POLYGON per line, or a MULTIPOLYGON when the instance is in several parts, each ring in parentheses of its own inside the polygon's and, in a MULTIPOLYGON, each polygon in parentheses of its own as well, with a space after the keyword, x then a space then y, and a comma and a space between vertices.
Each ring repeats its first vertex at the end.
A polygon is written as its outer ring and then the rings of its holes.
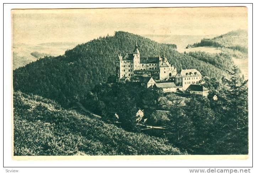
POLYGON ((120 30, 220 35, 237 29, 247 29, 246 7, 12 10, 13 43, 83 43, 120 30))

